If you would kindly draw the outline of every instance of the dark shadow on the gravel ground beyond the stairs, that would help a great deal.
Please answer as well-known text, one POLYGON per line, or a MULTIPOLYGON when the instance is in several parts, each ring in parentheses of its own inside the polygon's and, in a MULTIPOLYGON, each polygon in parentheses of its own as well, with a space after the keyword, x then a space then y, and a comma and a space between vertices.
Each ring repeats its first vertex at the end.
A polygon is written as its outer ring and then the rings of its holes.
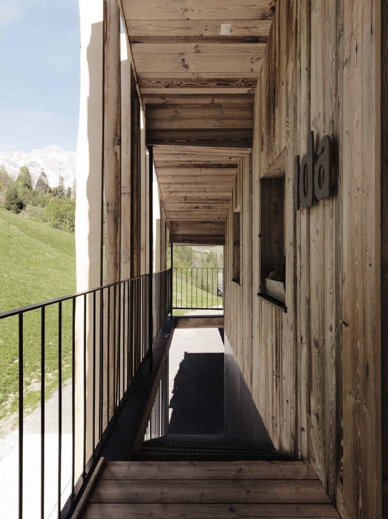
POLYGON ((170 434, 224 433, 224 353, 185 352, 170 408, 170 434))

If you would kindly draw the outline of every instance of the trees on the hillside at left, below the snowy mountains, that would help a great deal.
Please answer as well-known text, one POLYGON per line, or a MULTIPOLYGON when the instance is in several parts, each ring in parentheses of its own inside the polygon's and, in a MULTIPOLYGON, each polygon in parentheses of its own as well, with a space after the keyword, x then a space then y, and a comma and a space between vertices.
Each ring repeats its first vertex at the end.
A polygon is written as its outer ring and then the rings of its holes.
POLYGON ((47 222, 51 227, 74 233, 74 189, 65 187, 63 176, 56 187, 51 188, 47 174, 41 171, 35 186, 27 166, 20 168, 13 181, 0 166, 0 203, 13 213, 30 212, 34 217, 47 222))

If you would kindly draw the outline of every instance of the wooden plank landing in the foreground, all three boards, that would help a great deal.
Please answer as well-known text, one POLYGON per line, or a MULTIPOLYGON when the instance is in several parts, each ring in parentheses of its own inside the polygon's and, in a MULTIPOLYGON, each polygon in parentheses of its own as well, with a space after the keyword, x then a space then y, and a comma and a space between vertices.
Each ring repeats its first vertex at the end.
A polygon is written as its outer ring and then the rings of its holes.
POLYGON ((338 519, 304 461, 106 462, 83 519, 338 519))

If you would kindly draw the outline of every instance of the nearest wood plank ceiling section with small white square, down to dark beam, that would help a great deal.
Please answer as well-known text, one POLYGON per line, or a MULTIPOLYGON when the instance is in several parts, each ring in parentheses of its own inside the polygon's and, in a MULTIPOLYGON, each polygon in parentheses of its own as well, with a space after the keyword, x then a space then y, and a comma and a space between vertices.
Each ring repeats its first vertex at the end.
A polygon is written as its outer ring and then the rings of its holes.
POLYGON ((272 0, 122 0, 149 144, 252 145, 272 0))

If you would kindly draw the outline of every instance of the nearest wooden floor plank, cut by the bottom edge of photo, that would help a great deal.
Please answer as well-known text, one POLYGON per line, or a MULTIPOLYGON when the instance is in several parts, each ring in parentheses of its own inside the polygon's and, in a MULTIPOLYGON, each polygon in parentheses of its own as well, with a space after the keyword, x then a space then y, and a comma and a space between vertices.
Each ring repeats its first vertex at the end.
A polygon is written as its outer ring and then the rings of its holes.
POLYGON ((332 504, 89 504, 84 519, 339 519, 332 504))

